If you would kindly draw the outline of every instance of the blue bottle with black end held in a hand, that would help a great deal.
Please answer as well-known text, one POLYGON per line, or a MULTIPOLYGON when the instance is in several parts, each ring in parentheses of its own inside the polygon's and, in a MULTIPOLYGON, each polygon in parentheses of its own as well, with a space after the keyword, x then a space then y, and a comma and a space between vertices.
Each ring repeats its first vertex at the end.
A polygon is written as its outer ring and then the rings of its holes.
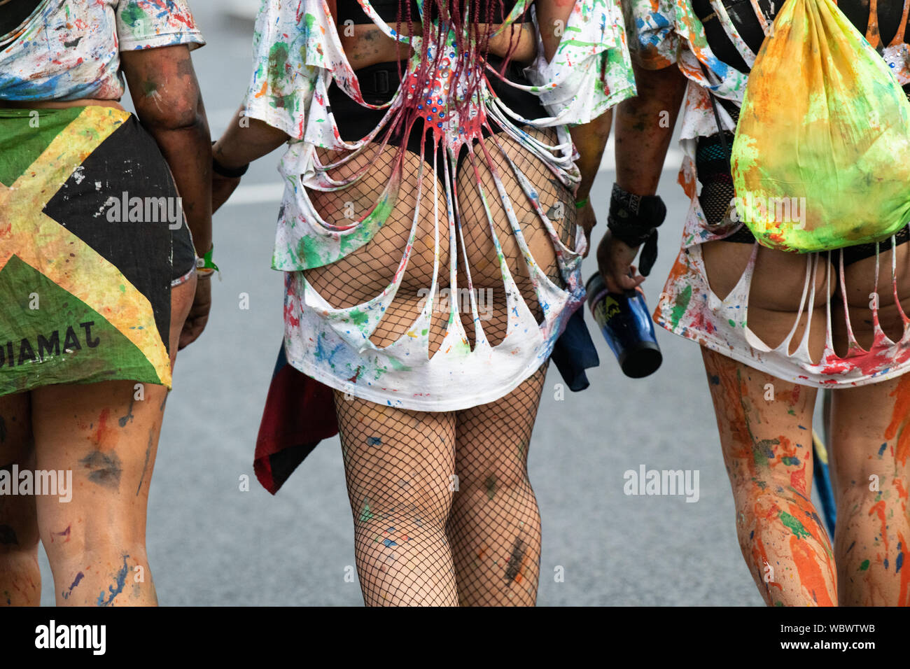
POLYGON ((588 279, 585 289, 591 316, 619 360, 622 372, 632 379, 654 373, 663 356, 644 295, 635 289, 622 295, 612 293, 600 273, 588 279))

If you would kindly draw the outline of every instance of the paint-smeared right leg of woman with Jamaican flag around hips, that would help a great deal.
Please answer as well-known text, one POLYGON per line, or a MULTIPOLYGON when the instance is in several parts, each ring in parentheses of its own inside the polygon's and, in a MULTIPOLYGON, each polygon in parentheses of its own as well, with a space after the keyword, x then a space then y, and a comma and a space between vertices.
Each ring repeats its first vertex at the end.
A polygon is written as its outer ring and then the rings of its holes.
MULTIPOLYGON (((171 298, 171 362, 196 280, 171 298)), ((32 391, 36 466, 72 471, 70 502, 37 498, 58 605, 152 605, 146 510, 167 390, 133 381, 32 391)))

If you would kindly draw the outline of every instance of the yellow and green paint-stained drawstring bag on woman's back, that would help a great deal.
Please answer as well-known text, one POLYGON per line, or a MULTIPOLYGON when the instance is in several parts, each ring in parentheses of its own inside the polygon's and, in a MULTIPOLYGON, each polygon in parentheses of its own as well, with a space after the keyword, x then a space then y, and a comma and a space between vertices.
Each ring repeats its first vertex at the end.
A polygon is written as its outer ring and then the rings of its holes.
POLYGON ((786 0, 755 59, 731 157, 765 247, 888 238, 910 220, 910 104, 832 0, 786 0))

